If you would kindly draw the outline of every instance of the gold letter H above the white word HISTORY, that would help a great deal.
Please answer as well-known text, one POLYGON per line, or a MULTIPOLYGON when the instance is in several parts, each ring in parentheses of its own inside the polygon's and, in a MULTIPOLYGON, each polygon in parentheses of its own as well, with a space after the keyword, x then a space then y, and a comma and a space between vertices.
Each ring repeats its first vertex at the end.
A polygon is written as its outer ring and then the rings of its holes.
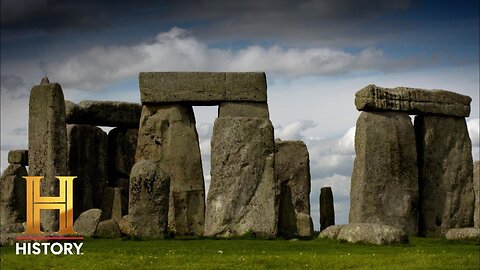
POLYGON ((27 225, 25 234, 42 234, 40 230, 40 210, 58 209, 60 211, 59 234, 75 234, 73 231, 73 179, 76 176, 57 176, 60 180, 58 197, 40 196, 42 176, 24 176, 27 181, 27 225))

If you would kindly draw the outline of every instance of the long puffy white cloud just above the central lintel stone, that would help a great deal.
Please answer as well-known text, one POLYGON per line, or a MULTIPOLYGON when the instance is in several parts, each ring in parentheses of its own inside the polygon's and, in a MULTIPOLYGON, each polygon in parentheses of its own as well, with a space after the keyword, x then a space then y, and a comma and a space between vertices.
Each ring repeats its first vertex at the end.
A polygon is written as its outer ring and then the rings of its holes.
POLYGON ((209 47, 188 31, 172 28, 132 46, 96 46, 64 60, 45 62, 50 78, 66 87, 99 89, 138 76, 140 71, 266 71, 296 77, 368 70, 381 61, 380 50, 357 54, 330 48, 248 46, 238 51, 209 47))

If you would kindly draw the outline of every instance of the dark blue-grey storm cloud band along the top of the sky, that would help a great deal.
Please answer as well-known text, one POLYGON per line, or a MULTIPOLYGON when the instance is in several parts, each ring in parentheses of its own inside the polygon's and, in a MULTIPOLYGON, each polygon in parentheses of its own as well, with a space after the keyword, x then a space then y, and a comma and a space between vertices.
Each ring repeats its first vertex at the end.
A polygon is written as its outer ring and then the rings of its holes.
POLYGON ((359 21, 408 9, 410 0, 94 1, 2 0, 12 31, 98 30, 187 24, 205 38, 310 39, 358 28, 359 21), (220 37, 221 36, 221 37, 220 37))

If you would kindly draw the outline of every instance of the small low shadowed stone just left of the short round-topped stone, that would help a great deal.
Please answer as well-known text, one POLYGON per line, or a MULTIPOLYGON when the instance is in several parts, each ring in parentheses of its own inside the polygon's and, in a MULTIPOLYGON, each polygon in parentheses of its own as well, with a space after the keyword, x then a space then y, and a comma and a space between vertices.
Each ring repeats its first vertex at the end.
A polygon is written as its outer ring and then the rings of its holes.
POLYGON ((103 195, 102 220, 120 219, 128 213, 128 189, 107 187, 103 195))

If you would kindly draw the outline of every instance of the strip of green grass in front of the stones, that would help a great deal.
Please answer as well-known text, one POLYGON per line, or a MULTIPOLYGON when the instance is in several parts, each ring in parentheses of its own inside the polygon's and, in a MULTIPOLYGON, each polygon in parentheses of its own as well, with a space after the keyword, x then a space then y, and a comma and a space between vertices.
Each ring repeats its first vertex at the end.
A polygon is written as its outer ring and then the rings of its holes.
POLYGON ((1 247, 1 269, 479 269, 477 241, 410 238, 372 246, 332 240, 86 239, 84 255, 15 255, 1 247))

